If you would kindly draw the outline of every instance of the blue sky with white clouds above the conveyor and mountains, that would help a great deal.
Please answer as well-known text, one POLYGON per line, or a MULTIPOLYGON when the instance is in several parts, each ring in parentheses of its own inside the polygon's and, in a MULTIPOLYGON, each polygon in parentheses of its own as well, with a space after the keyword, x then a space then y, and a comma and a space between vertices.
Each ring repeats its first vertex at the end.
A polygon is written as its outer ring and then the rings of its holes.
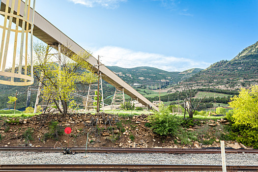
POLYGON ((105 65, 206 68, 258 41, 258 0, 36 0, 105 65))

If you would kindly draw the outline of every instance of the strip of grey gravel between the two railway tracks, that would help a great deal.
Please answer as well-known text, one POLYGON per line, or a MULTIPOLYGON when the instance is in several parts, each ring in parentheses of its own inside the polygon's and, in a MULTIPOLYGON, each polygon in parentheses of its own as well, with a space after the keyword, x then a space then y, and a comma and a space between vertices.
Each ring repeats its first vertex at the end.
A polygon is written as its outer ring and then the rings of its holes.
MULTIPOLYGON (((0 164, 188 164, 221 165, 221 154, 0 152, 0 164)), ((258 154, 226 154, 227 165, 258 165, 258 154)))

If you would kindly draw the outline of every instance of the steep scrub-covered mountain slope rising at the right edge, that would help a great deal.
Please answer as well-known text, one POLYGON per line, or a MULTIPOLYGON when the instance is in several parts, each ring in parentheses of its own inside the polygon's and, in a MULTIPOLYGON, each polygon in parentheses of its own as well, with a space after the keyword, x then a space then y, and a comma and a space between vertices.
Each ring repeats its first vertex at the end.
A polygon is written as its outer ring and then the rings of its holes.
POLYGON ((183 83, 232 90, 258 84, 258 42, 245 48, 230 61, 216 62, 183 83))

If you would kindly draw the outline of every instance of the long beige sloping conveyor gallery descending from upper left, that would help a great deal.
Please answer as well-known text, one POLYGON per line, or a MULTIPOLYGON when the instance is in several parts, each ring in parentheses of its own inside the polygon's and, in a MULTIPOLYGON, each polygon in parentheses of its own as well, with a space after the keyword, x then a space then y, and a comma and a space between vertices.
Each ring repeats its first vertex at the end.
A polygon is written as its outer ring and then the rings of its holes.
MULTIPOLYGON (((19 0, 15 0, 15 4, 18 4, 19 0)), ((6 2, 9 0, 1 0, 1 8, 0 11, 5 11, 6 2)), ((8 4, 8 10, 11 10, 11 4, 8 4)), ((21 7, 25 6, 25 2, 21 1, 21 7)), ((17 6, 14 7, 14 12, 17 13, 17 6)), ((29 18, 32 18, 33 9, 29 10, 29 18)), ((26 16, 24 11, 20 11, 20 16, 26 16)), ((14 21, 13 21, 14 22, 14 21)), ((22 23, 19 23, 19 26, 22 27, 22 23)), ((61 44, 74 52, 75 54, 85 53, 80 45, 74 42, 71 38, 66 36, 63 32, 57 29, 54 25, 52 25, 49 21, 47 21, 44 17, 42 17, 39 13, 35 11, 34 13, 34 25, 33 25, 33 36, 37 37, 41 41, 45 42, 48 45, 58 45, 61 44)), ((57 48, 57 47, 56 47, 57 48)), ((87 53, 87 52, 86 52, 87 53)), ((98 68, 95 67, 95 64, 98 64, 97 59, 89 54, 89 58, 87 59, 89 64, 93 66, 93 70, 97 71, 98 68)), ((153 108, 155 110, 159 110, 155 105, 153 105, 149 100, 143 97, 142 94, 137 92, 132 86, 125 83, 121 78, 115 75, 110 69, 108 69, 105 65, 100 63, 99 66, 100 72, 102 73, 102 79, 106 82, 115 86, 120 90, 124 90, 124 93, 132 97, 142 103, 143 105, 153 108)))

